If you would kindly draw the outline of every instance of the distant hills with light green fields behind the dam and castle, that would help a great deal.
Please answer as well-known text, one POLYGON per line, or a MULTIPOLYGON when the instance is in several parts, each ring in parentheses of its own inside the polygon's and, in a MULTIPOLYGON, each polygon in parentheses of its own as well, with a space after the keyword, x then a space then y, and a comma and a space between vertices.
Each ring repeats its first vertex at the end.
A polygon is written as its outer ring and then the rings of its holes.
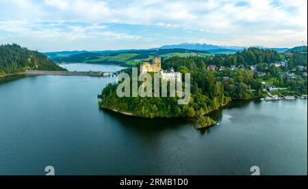
MULTIPOLYGON (((81 52, 81 51, 79 51, 81 52)), ((113 53, 112 50, 92 51, 67 56, 51 57, 53 61, 59 63, 113 63, 123 66, 133 66, 142 61, 149 61, 154 56, 169 58, 173 56, 189 57, 190 55, 207 56, 211 55, 205 50, 187 50, 181 48, 159 49, 159 50, 118 50, 113 53)), ((55 54, 55 53, 54 53, 55 54)), ((50 55, 50 54, 49 54, 50 55)), ((61 55, 61 54, 58 54, 61 55)))

